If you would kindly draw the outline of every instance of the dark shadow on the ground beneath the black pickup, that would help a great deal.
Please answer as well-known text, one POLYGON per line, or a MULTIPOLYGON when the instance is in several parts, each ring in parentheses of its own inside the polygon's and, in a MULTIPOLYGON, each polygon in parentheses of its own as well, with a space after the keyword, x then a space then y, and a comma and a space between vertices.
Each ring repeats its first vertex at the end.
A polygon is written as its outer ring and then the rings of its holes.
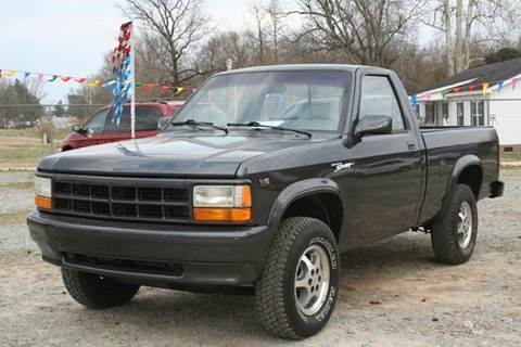
MULTIPOLYGON (((356 292, 364 295, 364 291, 359 290, 364 287, 365 282, 380 275, 392 274, 399 281, 401 277, 410 275, 411 269, 423 272, 437 267, 432 258, 430 240, 420 234, 399 235, 344 254, 341 287, 351 294, 341 295, 338 305, 345 306, 346 303, 343 301, 347 299, 356 300, 356 292)), ((79 310, 75 311, 78 317, 81 316, 79 310)), ((99 311, 89 310, 88 316, 97 312, 99 311)), ((182 334, 192 332, 190 339, 196 342, 202 338, 199 337, 198 331, 212 331, 215 336, 226 338, 264 340, 269 338, 257 321, 253 296, 204 295, 142 288, 129 305, 103 311, 102 314, 110 321, 111 317, 116 318, 122 326, 139 330, 144 335, 165 334, 166 337, 166 334, 175 332, 182 334)))

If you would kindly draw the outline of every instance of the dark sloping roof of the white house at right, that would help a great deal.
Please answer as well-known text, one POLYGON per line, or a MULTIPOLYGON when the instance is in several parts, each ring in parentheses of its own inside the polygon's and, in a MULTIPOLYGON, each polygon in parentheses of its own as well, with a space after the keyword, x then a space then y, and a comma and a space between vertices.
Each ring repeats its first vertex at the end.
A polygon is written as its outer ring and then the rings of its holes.
POLYGON ((465 87, 480 86, 482 83, 490 83, 488 87, 493 87, 501 80, 507 80, 518 75, 521 75, 521 57, 495 64, 471 67, 465 72, 454 75, 448 79, 443 80, 435 86, 432 86, 423 92, 443 89, 444 87, 454 85, 457 85, 462 89, 465 89, 465 87), (461 85, 461 82, 463 83, 461 85))

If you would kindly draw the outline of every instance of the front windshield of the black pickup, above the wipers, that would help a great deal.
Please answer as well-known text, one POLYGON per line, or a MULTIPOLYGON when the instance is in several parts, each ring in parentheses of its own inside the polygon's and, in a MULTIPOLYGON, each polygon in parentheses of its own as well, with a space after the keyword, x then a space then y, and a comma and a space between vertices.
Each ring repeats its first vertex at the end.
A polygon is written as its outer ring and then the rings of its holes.
POLYGON ((344 72, 237 73, 211 78, 175 121, 339 130, 350 75, 344 72))

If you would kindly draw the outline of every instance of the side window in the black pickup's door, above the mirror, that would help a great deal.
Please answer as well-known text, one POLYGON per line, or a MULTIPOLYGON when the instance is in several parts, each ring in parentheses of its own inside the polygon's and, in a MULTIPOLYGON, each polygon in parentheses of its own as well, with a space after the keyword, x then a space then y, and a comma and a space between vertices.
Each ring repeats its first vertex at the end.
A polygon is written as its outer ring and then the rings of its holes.
POLYGON ((402 111, 387 77, 364 77, 358 119, 365 116, 389 116, 393 119, 393 130, 405 129, 402 111))

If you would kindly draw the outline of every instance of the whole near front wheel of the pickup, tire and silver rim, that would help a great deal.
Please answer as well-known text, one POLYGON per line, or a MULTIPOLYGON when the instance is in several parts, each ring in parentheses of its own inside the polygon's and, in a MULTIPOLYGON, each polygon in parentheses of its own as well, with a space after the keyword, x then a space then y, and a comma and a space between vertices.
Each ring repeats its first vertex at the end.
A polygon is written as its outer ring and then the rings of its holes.
POLYGON ((256 283, 264 327, 292 339, 318 333, 333 311, 339 272, 336 241, 327 224, 307 217, 283 220, 256 283))

